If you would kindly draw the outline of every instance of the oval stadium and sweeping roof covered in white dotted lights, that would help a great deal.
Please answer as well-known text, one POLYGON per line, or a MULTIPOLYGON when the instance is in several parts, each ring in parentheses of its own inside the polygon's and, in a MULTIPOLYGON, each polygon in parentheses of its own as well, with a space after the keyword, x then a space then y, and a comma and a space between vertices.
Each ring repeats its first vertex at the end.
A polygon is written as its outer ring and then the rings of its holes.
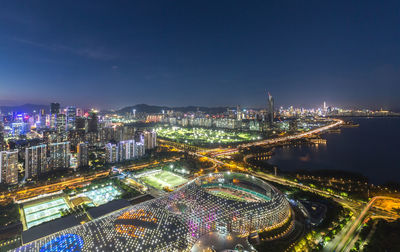
POLYGON ((246 237, 291 218, 285 196, 268 183, 246 174, 214 173, 16 251, 190 251, 210 233, 246 237))

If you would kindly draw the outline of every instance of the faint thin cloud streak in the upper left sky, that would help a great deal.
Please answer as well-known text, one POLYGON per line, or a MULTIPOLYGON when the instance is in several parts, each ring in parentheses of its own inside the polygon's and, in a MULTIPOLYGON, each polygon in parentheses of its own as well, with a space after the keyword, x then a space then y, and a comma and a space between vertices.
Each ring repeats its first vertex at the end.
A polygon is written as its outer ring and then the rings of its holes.
POLYGON ((117 55, 107 52, 103 47, 88 48, 88 47, 71 47, 62 44, 43 44, 43 43, 38 43, 36 41, 21 39, 21 38, 13 38, 13 40, 22 44, 40 47, 50 51, 68 52, 89 59, 112 60, 117 58, 117 55))

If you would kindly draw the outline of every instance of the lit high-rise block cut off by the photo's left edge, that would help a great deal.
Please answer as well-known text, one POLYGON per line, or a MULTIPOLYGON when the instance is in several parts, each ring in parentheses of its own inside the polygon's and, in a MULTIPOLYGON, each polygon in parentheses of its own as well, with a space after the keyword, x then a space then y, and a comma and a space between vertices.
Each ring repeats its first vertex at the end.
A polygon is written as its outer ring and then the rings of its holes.
POLYGON ((0 182, 18 183, 18 150, 0 152, 0 182))

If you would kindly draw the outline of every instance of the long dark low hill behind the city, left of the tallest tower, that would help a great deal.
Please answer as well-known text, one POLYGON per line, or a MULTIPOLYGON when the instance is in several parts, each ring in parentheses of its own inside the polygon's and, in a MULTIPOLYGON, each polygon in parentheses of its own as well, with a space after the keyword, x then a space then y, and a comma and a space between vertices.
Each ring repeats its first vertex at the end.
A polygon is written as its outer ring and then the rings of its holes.
POLYGON ((228 107, 196 107, 196 106, 187 106, 187 107, 167 107, 167 106, 155 106, 155 105, 147 105, 147 104, 137 104, 134 106, 128 106, 116 111, 119 114, 132 113, 133 109, 136 109, 136 113, 145 112, 145 113, 161 113, 163 110, 174 110, 180 112, 195 112, 197 110, 203 111, 208 114, 217 114, 223 113, 227 110, 228 107))

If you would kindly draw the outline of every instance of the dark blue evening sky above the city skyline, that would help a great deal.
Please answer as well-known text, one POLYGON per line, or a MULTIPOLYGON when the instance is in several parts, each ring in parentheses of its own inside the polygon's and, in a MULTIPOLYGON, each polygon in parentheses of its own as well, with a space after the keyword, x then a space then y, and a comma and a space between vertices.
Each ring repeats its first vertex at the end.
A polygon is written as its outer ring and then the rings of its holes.
POLYGON ((7 1, 0 104, 400 108, 400 1, 7 1))

